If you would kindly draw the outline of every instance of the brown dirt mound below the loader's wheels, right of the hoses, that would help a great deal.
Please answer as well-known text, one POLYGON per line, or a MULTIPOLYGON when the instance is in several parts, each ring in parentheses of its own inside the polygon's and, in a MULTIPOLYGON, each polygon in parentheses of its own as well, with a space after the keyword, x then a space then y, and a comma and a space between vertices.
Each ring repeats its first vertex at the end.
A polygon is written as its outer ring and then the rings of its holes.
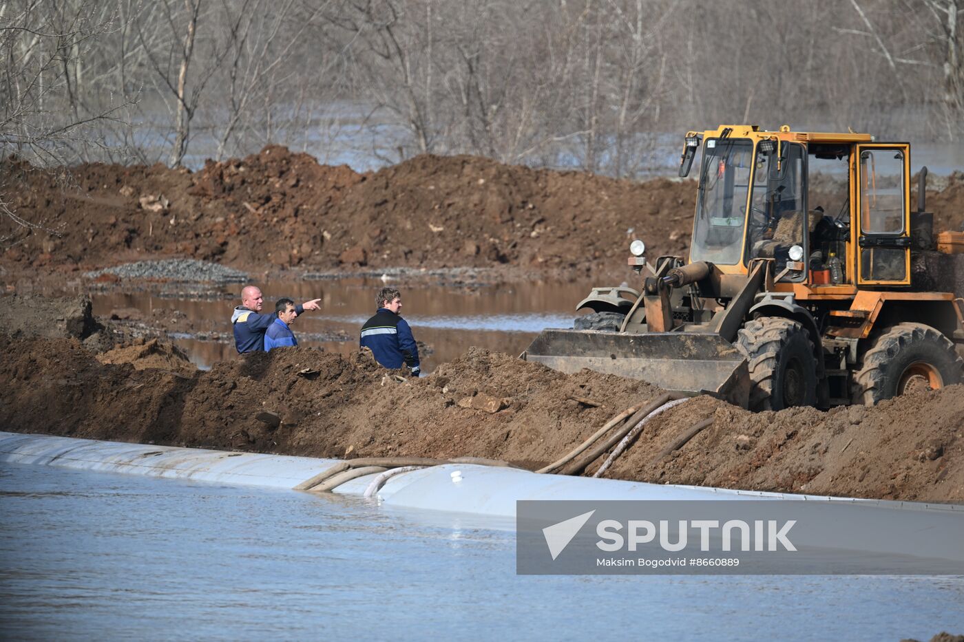
POLYGON ((918 501, 964 499, 964 386, 828 413, 753 414, 697 397, 644 431, 605 474, 658 483, 918 501), (660 457, 696 422, 712 418, 660 457))

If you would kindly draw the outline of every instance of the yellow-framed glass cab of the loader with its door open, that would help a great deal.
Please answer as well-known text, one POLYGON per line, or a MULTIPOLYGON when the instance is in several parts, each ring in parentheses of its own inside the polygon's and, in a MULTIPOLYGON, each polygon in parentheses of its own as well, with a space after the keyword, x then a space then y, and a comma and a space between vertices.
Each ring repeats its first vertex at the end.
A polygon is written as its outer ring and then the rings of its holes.
MULTIPOLYGON (((703 135, 690 262, 746 274, 772 259, 788 287, 910 283, 909 146, 786 125, 703 135)), ((696 136, 687 134, 687 170, 696 136)))

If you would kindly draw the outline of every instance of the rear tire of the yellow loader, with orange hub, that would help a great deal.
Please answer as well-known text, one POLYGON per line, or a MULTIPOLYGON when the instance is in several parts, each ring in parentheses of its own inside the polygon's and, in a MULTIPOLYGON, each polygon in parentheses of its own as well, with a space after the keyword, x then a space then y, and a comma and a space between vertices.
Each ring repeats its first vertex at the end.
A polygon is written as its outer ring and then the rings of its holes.
POLYGON ((914 389, 964 381, 964 360, 951 340, 923 323, 899 323, 879 334, 854 373, 851 401, 872 406, 914 389))

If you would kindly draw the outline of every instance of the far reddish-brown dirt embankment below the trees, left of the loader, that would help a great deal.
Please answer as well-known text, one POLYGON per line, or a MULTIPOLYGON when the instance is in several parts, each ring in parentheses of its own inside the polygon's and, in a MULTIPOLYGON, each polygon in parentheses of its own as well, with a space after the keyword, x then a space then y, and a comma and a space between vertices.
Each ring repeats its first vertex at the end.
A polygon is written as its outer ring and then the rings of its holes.
MULTIPOLYGON (((195 174, 90 164, 66 176, 0 162, 0 185, 19 216, 63 234, 31 235, 3 254, 8 267, 89 268, 177 254, 242 268, 511 264, 622 274, 629 236, 645 239, 654 256, 686 249, 695 198, 691 182, 639 183, 470 156, 418 156, 357 174, 275 146, 195 174)), ((0 220, 0 236, 25 234, 0 220)))

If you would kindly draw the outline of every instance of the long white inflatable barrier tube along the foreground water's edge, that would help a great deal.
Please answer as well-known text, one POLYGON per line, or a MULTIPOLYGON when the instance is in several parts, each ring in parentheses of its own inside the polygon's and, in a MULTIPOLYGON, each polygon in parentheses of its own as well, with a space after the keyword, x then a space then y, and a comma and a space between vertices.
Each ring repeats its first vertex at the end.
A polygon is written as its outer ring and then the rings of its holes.
MULTIPOLYGON (((0 461, 284 489, 293 489, 340 463, 333 459, 4 432, 0 432, 0 461)), ((361 497, 375 478, 375 474, 369 474, 353 479, 336 488, 335 494, 361 497)), ((809 499, 964 513, 964 506, 950 504, 647 484, 471 464, 446 464, 396 474, 387 479, 378 497, 393 506, 506 518, 515 516, 520 499, 809 499), (456 471, 459 474, 453 474, 456 471)))

